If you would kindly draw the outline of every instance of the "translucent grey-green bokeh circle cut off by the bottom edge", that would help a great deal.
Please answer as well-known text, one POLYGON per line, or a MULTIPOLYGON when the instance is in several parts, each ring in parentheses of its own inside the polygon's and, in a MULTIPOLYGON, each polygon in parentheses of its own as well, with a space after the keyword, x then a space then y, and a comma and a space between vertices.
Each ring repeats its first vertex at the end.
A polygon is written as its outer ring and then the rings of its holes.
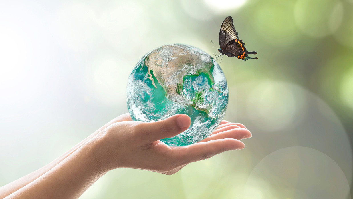
MULTIPOLYGON (((254 198, 346 199, 347 178, 326 154, 309 147, 286 147, 263 158, 252 170, 244 199, 254 198)), ((349 197, 350 198, 350 197, 349 197)))

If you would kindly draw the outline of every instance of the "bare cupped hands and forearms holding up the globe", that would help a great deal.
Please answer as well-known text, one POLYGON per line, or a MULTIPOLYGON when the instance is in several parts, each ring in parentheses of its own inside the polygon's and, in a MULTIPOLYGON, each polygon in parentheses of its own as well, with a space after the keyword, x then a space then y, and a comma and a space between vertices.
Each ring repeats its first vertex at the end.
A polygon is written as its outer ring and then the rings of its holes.
POLYGON ((243 149, 240 140, 251 137, 243 124, 222 121, 210 136, 189 146, 170 147, 160 141, 190 124, 184 114, 151 123, 132 121, 128 113, 118 116, 46 166, 0 187, 0 198, 78 198, 109 170, 134 168, 172 175, 189 163, 243 149))

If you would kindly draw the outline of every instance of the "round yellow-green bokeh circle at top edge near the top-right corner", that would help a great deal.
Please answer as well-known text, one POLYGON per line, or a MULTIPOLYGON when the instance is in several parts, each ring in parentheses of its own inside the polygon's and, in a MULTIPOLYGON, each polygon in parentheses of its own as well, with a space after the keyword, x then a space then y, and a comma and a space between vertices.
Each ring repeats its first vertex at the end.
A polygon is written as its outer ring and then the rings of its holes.
POLYGON ((339 0, 297 0, 294 17, 305 34, 321 38, 334 33, 343 17, 343 6, 339 0))

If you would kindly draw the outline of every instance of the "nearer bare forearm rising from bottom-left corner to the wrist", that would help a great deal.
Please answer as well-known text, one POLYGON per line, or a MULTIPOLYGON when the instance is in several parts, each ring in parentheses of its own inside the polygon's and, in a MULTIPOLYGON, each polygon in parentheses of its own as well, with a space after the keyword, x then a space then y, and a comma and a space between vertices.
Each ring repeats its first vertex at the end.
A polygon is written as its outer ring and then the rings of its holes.
POLYGON ((8 195, 10 198, 78 198, 105 172, 99 168, 94 153, 97 139, 91 139, 70 156, 28 185, 8 195))

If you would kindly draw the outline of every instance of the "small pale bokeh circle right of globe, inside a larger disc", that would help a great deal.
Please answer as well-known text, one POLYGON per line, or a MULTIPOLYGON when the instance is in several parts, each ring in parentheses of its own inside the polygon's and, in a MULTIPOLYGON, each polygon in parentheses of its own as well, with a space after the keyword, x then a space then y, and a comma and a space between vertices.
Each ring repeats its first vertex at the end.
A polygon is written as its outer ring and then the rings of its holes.
POLYGON ((257 121, 255 125, 273 132, 298 122, 301 111, 305 110, 305 99, 295 87, 276 81, 262 81, 252 86, 247 95, 246 114, 257 121))

